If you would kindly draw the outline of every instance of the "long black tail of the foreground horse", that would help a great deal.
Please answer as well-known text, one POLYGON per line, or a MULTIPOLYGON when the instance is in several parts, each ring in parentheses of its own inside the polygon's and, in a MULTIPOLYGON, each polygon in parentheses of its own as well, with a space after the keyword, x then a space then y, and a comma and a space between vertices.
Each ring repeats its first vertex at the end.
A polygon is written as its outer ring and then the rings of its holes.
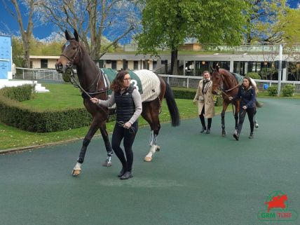
POLYGON ((165 82, 165 100, 168 104, 168 109, 172 119, 172 126, 176 127, 180 124, 179 110, 177 108, 172 89, 167 82, 165 82))

